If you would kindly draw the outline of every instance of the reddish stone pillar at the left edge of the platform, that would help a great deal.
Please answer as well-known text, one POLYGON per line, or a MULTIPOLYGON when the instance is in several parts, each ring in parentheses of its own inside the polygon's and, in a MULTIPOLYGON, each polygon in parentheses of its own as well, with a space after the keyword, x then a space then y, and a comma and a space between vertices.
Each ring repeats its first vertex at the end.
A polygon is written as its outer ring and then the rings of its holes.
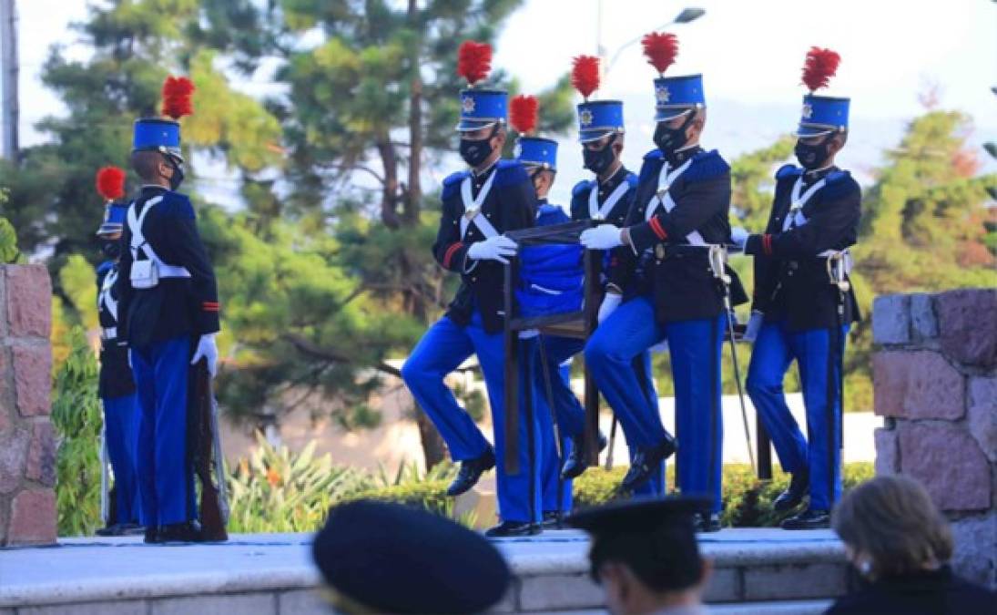
POLYGON ((0 266, 0 547, 56 540, 51 319, 45 267, 0 266))

